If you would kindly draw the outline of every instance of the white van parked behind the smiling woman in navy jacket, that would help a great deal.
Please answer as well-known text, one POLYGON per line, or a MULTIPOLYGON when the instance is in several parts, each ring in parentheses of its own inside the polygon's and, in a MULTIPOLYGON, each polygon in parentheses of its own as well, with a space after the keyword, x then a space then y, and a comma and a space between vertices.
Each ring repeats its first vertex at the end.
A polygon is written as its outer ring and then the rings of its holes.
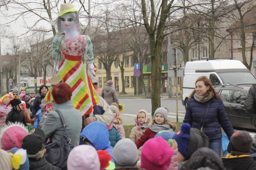
POLYGON ((188 97, 195 88, 196 79, 207 76, 214 86, 255 84, 256 78, 238 60, 189 61, 184 68, 182 104, 186 106, 188 97))

